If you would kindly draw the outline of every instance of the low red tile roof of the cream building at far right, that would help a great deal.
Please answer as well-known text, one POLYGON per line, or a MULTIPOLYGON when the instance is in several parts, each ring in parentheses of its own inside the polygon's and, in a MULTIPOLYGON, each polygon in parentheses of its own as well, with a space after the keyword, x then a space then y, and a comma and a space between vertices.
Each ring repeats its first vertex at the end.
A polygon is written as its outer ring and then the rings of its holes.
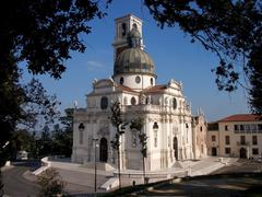
POLYGON ((218 121, 258 121, 258 120, 262 120, 262 116, 254 114, 236 114, 223 118, 218 121))

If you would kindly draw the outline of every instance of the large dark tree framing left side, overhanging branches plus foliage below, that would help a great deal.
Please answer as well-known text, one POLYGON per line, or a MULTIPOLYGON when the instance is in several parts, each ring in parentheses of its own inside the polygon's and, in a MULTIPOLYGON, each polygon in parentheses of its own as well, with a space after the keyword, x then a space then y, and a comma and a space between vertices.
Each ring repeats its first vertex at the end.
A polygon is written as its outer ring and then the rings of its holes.
POLYGON ((59 79, 70 51, 85 50, 82 34, 91 33, 88 22, 103 18, 93 0, 11 0, 0 7, 0 165, 5 162, 3 144, 22 117, 21 69, 59 79))

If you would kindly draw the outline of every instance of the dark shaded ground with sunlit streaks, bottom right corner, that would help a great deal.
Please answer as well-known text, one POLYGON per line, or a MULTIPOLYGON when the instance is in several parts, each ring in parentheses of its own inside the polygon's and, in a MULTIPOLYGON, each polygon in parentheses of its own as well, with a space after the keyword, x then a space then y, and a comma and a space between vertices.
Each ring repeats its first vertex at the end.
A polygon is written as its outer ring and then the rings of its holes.
MULTIPOLYGON (((203 177, 182 181, 180 183, 166 184, 144 192, 140 196, 252 196, 246 189, 262 187, 261 177, 203 177)), ((254 196, 261 196, 261 192, 254 196)))

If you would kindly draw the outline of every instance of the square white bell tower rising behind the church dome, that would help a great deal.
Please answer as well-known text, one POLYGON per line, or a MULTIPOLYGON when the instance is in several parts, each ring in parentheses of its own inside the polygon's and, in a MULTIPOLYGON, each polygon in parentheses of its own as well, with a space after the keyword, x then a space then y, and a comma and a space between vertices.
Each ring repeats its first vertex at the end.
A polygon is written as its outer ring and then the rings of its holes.
MULTIPOLYGON (((114 62, 118 58, 119 54, 128 48, 127 36, 128 33, 132 30, 133 26, 136 26, 140 35, 142 36, 142 21, 141 19, 128 14, 122 18, 118 18, 115 20, 115 40, 112 43, 114 46, 114 62)), ((141 49, 144 48, 143 40, 141 39, 141 49)))

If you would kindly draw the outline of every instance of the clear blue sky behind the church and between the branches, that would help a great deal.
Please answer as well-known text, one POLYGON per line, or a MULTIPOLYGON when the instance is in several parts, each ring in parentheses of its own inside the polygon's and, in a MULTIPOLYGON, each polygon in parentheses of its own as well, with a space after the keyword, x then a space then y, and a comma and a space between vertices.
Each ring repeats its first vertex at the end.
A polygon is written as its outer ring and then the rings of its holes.
MULTIPOLYGON (((192 104, 192 114, 195 115, 201 107, 207 121, 248 113, 248 95, 241 88, 233 93, 217 90, 215 76, 211 72, 218 63, 217 57, 199 43, 192 44, 190 36, 178 27, 159 28, 141 2, 114 0, 106 18, 90 23, 92 33, 82 36, 86 51, 71 53, 72 58, 66 62, 67 71, 62 78, 37 77, 48 93, 56 94, 61 101, 60 111, 73 107, 74 101, 79 107, 86 107, 85 95, 92 91, 94 79, 112 76, 114 20, 131 13, 143 21, 143 42, 155 62, 157 84, 167 83, 170 79, 181 81, 183 95, 192 104)), ((31 78, 29 73, 24 73, 25 81, 31 78)))

